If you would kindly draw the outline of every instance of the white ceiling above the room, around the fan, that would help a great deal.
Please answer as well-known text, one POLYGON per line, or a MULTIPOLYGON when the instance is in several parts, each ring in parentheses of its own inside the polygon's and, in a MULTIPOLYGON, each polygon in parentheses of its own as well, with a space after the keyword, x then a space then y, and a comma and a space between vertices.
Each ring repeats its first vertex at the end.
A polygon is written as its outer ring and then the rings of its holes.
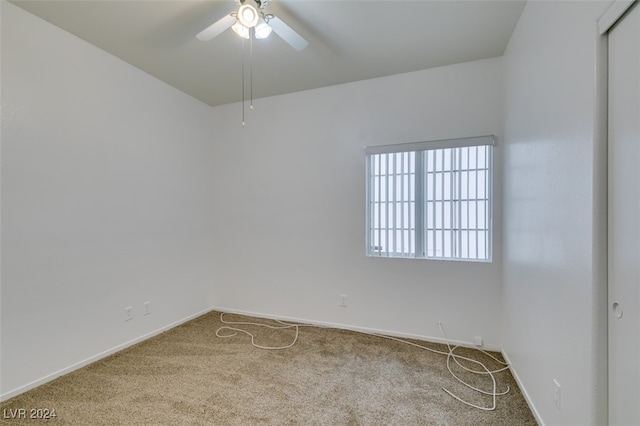
MULTIPOLYGON (((233 0, 12 0, 12 3, 206 102, 241 100, 242 42, 230 29, 195 35, 233 0)), ((501 56, 523 1, 270 0, 309 41, 298 52, 277 35, 245 44, 253 97, 501 56)), ((249 86, 247 86, 248 95, 249 86)))

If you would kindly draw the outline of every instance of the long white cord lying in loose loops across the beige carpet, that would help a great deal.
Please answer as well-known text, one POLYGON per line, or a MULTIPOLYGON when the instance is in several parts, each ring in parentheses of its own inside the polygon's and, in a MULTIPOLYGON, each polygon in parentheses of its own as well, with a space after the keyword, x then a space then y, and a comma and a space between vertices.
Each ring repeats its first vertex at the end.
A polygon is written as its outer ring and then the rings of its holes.
MULTIPOLYGON (((251 337, 251 345, 253 345, 254 347, 259 348, 259 349, 280 350, 280 349, 287 349, 287 348, 292 347, 298 341, 298 335, 300 333, 300 327, 329 328, 329 327, 325 327, 325 326, 321 326, 321 325, 313 325, 313 324, 292 324, 292 323, 284 322, 284 321, 281 321, 281 320, 274 320, 278 324, 280 324, 280 325, 275 325, 275 326, 274 325, 269 325, 269 324, 263 324, 263 323, 256 323, 256 322, 227 321, 227 320, 224 319, 224 314, 225 314, 224 312, 220 313, 220 322, 222 322, 223 324, 227 324, 227 325, 223 325, 223 326, 219 327, 216 330, 216 336, 221 337, 221 338, 229 338, 229 337, 236 336, 238 333, 244 333, 244 334, 248 335, 249 337, 251 337), (295 329, 295 337, 293 338, 293 341, 288 345, 284 345, 284 346, 263 346, 263 345, 258 345, 255 342, 255 336, 252 333, 250 333, 250 332, 248 332, 246 330, 243 330, 241 328, 231 327, 231 325, 233 325, 233 326, 237 326, 237 325, 258 326, 258 327, 266 327, 266 328, 273 329, 273 330, 284 330, 284 329, 293 328, 293 329, 295 329), (221 333, 222 331, 231 332, 231 334, 222 334, 221 333)), ((363 332, 363 331, 359 331, 359 333, 370 335, 370 336, 376 336, 376 337, 380 337, 380 338, 384 338, 384 339, 388 339, 388 340, 393 340, 393 341, 396 341, 396 342, 399 342, 399 343, 404 343, 406 345, 415 346, 417 348, 424 349, 426 351, 433 352, 433 353, 436 353, 436 354, 446 355, 447 356, 447 370, 449 370, 449 373, 458 382, 462 383, 463 385, 465 385, 469 389, 472 389, 472 390, 474 390, 474 391, 476 391, 478 393, 481 393, 483 395, 491 396, 493 403, 492 403, 491 407, 482 407, 480 405, 476 405, 476 404, 473 404, 473 403, 470 403, 468 401, 463 400, 462 398, 454 395, 451 391, 449 391, 449 390, 447 390, 445 388, 442 388, 442 390, 445 391, 446 393, 448 393, 449 395, 451 395, 453 398, 457 399, 458 401, 460 401, 463 404, 466 404, 466 405, 468 405, 470 407, 477 408, 479 410, 484 410, 484 411, 495 410, 496 409, 496 397, 497 396, 506 395, 510 391, 509 386, 507 386, 507 389, 505 391, 502 391, 502 392, 498 392, 497 391, 497 382, 496 382, 495 374, 509 369, 509 364, 499 360, 495 356, 491 355, 489 352, 484 351, 482 349, 477 349, 477 350, 482 352, 482 353, 484 353, 488 357, 492 358, 497 363, 504 365, 504 367, 499 368, 497 370, 489 370, 487 368, 487 366, 485 364, 483 364, 482 362, 480 362, 480 361, 477 361, 477 360, 474 360, 474 359, 471 359, 471 358, 468 358, 468 357, 465 357, 465 356, 462 356, 462 355, 456 355, 454 353, 454 351, 457 348, 459 348, 460 346, 456 345, 454 347, 451 347, 451 344, 449 343, 449 338, 447 337, 447 335, 446 335, 446 333, 444 331, 444 328, 442 326, 442 323, 440 321, 438 321, 438 327, 440 328, 440 332, 442 333, 442 336, 444 337, 444 340, 445 340, 445 342, 447 344, 447 348, 449 349, 447 352, 439 351, 437 349, 432 349, 432 348, 429 348, 427 346, 419 345, 417 343, 410 342, 408 340, 400 339, 400 338, 397 338, 397 337, 386 336, 384 334, 368 333, 368 332, 363 332), (474 374, 488 374, 489 377, 491 378, 492 391, 488 392, 488 391, 483 391, 481 389, 478 389, 478 388, 472 386, 471 384, 465 382, 464 380, 460 379, 458 376, 456 376, 454 374, 453 370, 451 369, 451 359, 453 359, 455 361, 455 363, 465 371, 468 371, 468 372, 474 373, 474 374), (473 363, 475 365, 478 365, 478 366, 480 366, 482 368, 482 370, 480 370, 480 371, 479 370, 473 370, 471 368, 465 367, 464 365, 460 364, 458 359, 465 360, 465 361, 471 362, 471 363, 473 363)))

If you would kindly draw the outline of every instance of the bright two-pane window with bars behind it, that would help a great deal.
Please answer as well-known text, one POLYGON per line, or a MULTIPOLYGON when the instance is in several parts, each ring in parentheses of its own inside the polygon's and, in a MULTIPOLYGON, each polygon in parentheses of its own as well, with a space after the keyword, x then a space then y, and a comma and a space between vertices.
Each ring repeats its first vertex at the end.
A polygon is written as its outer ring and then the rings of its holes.
POLYGON ((491 261, 493 144, 368 147, 367 255, 491 261))

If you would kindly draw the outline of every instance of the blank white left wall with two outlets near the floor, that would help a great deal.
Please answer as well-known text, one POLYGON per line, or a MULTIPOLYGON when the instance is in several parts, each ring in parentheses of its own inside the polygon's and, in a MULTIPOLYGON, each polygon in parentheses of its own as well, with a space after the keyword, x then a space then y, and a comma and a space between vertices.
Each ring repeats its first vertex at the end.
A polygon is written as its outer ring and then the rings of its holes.
POLYGON ((207 309, 216 239, 209 107, 0 5, 4 399, 207 309))

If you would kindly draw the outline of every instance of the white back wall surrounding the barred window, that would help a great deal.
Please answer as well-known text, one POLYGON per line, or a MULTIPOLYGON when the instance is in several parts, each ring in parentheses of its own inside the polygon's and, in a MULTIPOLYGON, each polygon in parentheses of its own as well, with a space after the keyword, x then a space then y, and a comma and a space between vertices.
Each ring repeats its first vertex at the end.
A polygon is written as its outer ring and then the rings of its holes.
POLYGON ((497 58, 259 99, 245 128, 239 104, 214 108, 215 305, 429 339, 442 320, 501 347, 500 191, 493 263, 367 258, 364 161, 367 145, 495 134, 499 166, 501 78, 497 58))

